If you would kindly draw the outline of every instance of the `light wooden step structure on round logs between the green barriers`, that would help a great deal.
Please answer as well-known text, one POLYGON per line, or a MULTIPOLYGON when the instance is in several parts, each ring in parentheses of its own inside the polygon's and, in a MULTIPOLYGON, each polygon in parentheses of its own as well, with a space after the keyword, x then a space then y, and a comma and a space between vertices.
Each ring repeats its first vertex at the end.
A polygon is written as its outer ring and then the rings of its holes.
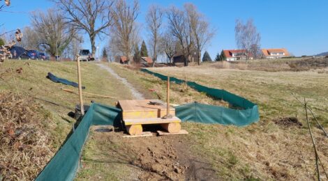
POLYGON ((117 107, 122 109, 122 118, 128 134, 141 135, 142 125, 161 125, 168 133, 181 131, 181 120, 170 107, 172 118, 163 118, 167 114, 167 104, 160 100, 119 100, 117 107))

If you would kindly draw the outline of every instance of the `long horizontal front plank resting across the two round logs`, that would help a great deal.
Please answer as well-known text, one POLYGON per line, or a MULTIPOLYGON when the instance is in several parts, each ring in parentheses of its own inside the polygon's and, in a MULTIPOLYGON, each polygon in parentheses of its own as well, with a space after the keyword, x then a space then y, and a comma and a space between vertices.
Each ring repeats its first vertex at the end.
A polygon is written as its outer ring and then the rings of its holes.
POLYGON ((181 120, 177 117, 170 119, 162 118, 141 118, 141 119, 125 119, 125 125, 151 125, 151 124, 163 124, 163 123, 181 123, 181 120))

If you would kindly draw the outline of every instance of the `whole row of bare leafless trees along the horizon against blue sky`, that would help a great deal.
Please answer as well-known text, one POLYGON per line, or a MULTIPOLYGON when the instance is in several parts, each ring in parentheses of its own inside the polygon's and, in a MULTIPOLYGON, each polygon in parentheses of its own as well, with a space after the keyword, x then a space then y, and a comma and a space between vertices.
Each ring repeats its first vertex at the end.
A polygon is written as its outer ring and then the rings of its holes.
MULTIPOLYGON (((31 26, 23 30, 20 45, 38 49, 50 56, 74 57, 82 48, 83 36, 87 34, 91 54, 96 54, 96 39, 108 39, 103 55, 113 60, 126 56, 128 63, 142 56, 150 56, 153 66, 158 56, 165 55, 172 63, 174 55, 181 55, 184 65, 195 58, 201 62, 201 52, 209 45, 216 30, 193 3, 184 3, 182 8, 163 8, 151 4, 145 15, 145 24, 137 22, 140 3, 137 0, 51 0, 55 8, 46 12, 31 13, 31 26), (147 33, 147 45, 140 33, 147 33), (142 44, 140 43, 142 42, 142 44), (140 49, 141 45, 141 49, 140 49)), ((256 54, 260 47, 260 33, 253 21, 243 24, 237 20, 235 27, 237 47, 256 54)), ((209 61, 205 52, 203 61, 209 61)), ((224 60, 217 55, 214 60, 224 60)), ((138 61, 138 60, 135 60, 138 61)))

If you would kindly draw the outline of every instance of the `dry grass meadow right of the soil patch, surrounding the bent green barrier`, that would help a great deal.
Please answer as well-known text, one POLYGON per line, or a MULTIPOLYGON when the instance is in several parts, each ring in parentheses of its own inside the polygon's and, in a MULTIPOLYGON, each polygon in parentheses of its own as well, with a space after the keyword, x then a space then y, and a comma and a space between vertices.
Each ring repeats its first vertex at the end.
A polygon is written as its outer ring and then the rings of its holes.
MULTIPOLYGON (((158 88, 158 79, 145 74, 131 74, 120 65, 110 65, 121 76, 134 84, 155 88, 165 95, 165 86, 158 88)), ((304 114, 290 92, 310 98, 310 105, 327 128, 328 75, 318 72, 259 72, 249 70, 218 70, 215 68, 153 68, 155 72, 200 84, 223 88, 259 104, 260 122, 248 127, 201 125, 184 123, 191 134, 195 155, 207 158, 220 177, 229 180, 260 178, 261 180, 306 180, 313 178, 313 152, 306 126, 283 128, 271 120, 284 116, 297 116, 304 123, 304 114), (192 72, 192 73, 191 73, 192 72), (291 157, 292 155, 292 157, 291 157), (309 176, 308 176, 309 175, 309 176)), ((173 89, 173 88, 172 88, 173 89)), ((172 91, 172 102, 184 103, 179 88, 172 91)), ((187 93, 188 95, 188 93, 187 93)), ((195 98, 195 95, 191 94, 195 98)), ((197 97, 197 96, 196 96, 197 97)), ((304 123, 305 125, 305 123, 304 123)), ((315 129, 320 156, 327 168, 327 139, 315 129)))

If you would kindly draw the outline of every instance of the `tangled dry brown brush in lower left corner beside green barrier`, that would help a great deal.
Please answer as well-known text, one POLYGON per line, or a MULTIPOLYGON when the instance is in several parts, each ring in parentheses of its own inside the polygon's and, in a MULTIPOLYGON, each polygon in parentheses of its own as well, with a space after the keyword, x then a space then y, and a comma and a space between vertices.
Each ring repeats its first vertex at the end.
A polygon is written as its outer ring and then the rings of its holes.
POLYGON ((0 93, 0 180, 33 180, 54 155, 31 99, 0 93))

